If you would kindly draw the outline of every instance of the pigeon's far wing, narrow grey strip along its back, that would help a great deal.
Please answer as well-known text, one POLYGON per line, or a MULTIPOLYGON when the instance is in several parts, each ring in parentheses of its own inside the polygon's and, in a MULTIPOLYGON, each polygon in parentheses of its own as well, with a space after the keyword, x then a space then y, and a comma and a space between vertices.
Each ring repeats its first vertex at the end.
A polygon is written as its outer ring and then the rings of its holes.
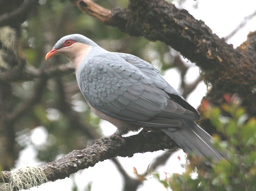
POLYGON ((170 84, 168 84, 165 81, 160 71, 158 71, 158 69, 156 69, 153 65, 131 54, 126 54, 126 53, 116 53, 116 54, 122 57, 128 63, 134 65, 135 67, 138 67, 140 71, 142 71, 142 73, 144 73, 150 79, 152 79, 156 87, 168 93, 168 95, 172 100, 180 104, 182 107, 194 112, 196 114, 196 118, 194 120, 201 119, 201 116, 198 113, 198 111, 194 107, 192 107, 188 102, 186 102, 186 100, 170 84))

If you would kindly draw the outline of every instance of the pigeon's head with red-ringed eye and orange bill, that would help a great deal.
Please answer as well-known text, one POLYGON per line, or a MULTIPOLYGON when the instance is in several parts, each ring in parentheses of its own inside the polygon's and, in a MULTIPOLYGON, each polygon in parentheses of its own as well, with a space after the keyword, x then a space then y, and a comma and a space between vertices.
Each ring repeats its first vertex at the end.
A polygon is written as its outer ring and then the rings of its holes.
POLYGON ((66 35, 58 40, 53 49, 48 52, 45 59, 48 60, 54 55, 62 54, 70 61, 86 57, 92 46, 98 46, 94 41, 80 34, 66 35))

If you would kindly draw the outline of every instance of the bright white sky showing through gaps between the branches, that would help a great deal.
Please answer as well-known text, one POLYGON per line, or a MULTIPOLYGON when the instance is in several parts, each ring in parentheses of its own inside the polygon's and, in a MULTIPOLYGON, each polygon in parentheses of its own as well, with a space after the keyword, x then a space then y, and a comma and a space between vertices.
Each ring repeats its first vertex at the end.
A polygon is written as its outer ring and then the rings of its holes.
MULTIPOLYGON (((232 30, 234 30, 245 16, 248 16, 254 12, 256 8, 256 1, 252 0, 187 0, 185 4, 182 5, 183 8, 188 10, 196 19, 203 20, 207 26, 209 26, 214 33, 219 37, 225 37, 232 30), (198 4, 198 8, 195 9, 194 5, 198 4)), ((228 43, 232 43, 234 47, 240 45, 246 40, 246 36, 250 31, 256 30, 256 19, 254 18, 248 24, 240 30, 234 37, 232 37, 228 43)), ((195 75, 198 73, 196 67, 191 69, 190 75, 187 76, 188 81, 194 79, 195 75)), ((166 79, 172 86, 176 87, 177 82, 177 72, 174 70, 168 71, 166 74, 168 79, 166 79)), ((177 87, 176 87, 177 88, 177 87)), ((194 107, 197 107, 200 103, 202 96, 206 93, 206 86, 201 83, 198 85, 197 89, 188 97, 188 102, 194 107)), ((105 126, 105 125, 104 125, 105 126)), ((42 127, 38 129, 43 132, 42 127)), ((106 134, 112 134, 115 128, 109 128, 106 134)), ((36 132, 33 132, 36 134, 36 132)), ((138 173, 144 173, 147 169, 148 164, 152 159, 160 154, 162 151, 154 153, 145 154, 135 154, 133 158, 118 158, 120 159, 123 167, 128 173, 132 174, 132 167, 136 167, 138 173)), ((178 154, 182 158, 182 163, 184 163, 184 153, 179 151, 178 154)), ((158 171, 163 175, 164 172, 182 172, 180 167, 180 161, 176 156, 173 156, 165 167, 160 167, 158 171)), ((35 156, 31 148, 26 148, 17 162, 17 167, 24 165, 34 165, 36 160, 33 159, 35 156), (26 156, 26 157, 25 157, 26 156), (28 159, 27 156, 30 156, 28 159)), ((112 190, 120 191, 122 190, 122 179, 118 174, 115 166, 111 161, 103 161, 97 163, 94 167, 79 171, 78 173, 72 175, 75 177, 76 183, 79 185, 80 190, 84 190, 86 184, 92 181, 92 191, 98 190, 112 190)), ((44 190, 62 190, 70 191, 72 187, 72 181, 68 178, 64 180, 58 180, 56 182, 46 183, 40 187, 34 187, 30 189, 31 191, 44 191, 44 190)), ((162 185, 160 185, 154 179, 146 181, 139 191, 149 191, 149 190, 166 191, 162 185)))

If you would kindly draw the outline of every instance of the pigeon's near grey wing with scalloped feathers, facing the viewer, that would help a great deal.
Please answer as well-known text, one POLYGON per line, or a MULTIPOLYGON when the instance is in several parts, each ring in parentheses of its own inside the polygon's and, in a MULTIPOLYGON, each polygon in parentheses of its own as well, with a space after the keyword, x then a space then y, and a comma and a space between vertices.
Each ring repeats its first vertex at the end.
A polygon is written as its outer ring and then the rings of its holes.
POLYGON ((168 93, 121 57, 108 53, 86 62, 80 73, 80 89, 96 110, 152 127, 178 127, 181 118, 195 118, 194 112, 170 100, 168 93))

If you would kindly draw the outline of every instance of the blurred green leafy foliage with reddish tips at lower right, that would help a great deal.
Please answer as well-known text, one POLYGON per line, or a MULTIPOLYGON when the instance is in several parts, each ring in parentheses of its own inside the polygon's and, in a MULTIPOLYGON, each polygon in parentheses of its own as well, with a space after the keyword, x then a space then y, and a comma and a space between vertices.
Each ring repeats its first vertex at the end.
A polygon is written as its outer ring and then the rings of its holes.
POLYGON ((215 135, 215 145, 228 153, 229 161, 223 160, 206 169, 203 161, 191 158, 183 174, 173 174, 169 178, 154 177, 164 187, 173 191, 252 191, 256 190, 256 119, 249 118, 240 105, 240 99, 230 96, 220 107, 204 107, 209 118, 225 141, 215 135), (197 177, 192 177, 196 173, 197 177))

